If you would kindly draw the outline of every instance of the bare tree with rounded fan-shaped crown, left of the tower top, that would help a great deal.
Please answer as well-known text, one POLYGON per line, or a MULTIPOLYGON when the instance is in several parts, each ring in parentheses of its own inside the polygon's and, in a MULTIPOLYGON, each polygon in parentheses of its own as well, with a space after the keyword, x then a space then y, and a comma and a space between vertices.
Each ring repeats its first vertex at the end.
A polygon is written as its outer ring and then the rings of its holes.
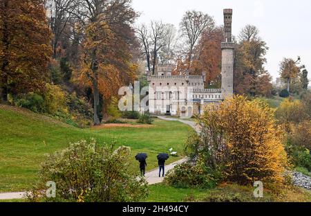
POLYGON ((212 17, 203 12, 191 10, 187 11, 180 22, 180 31, 182 37, 185 37, 187 42, 187 61, 188 69, 190 69, 194 47, 200 39, 202 33, 207 28, 214 28, 215 22, 212 17))

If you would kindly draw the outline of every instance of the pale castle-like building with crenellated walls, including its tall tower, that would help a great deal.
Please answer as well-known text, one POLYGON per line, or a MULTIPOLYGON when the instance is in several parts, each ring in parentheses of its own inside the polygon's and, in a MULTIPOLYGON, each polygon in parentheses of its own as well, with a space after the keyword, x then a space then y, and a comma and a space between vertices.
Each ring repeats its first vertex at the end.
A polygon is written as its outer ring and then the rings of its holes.
POLYGON ((171 116, 202 114, 204 106, 220 102, 234 93, 234 42, 232 42, 232 9, 224 10, 225 37, 222 49, 221 89, 205 89, 202 75, 172 75, 172 64, 158 64, 156 74, 148 74, 149 112, 171 116))

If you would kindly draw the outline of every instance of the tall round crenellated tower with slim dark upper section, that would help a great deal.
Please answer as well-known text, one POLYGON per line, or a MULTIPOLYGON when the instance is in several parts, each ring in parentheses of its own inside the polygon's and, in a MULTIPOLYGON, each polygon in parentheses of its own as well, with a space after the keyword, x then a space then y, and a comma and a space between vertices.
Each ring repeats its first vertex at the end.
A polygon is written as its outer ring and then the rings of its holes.
POLYGON ((234 42, 232 42, 232 9, 223 10, 225 21, 225 38, 221 43, 222 67, 221 90, 223 99, 234 93, 234 42))

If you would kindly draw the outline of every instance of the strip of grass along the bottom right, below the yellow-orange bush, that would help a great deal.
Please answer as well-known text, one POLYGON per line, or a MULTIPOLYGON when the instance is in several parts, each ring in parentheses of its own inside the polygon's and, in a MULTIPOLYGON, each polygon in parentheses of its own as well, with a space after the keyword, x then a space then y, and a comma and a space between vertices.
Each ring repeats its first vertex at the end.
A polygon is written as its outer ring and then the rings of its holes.
POLYGON ((280 188, 281 193, 264 190, 263 198, 254 197, 252 186, 222 184, 215 189, 175 188, 157 184, 149 186, 148 202, 310 202, 311 191, 301 188, 280 188))

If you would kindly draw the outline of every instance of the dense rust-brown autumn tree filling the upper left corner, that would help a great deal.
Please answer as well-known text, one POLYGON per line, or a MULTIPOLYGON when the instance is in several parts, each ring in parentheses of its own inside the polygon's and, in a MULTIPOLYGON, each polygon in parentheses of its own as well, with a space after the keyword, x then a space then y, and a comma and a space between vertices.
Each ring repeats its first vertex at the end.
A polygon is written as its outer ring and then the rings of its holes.
POLYGON ((44 1, 0 2, 1 98, 42 91, 50 60, 50 30, 44 1))

